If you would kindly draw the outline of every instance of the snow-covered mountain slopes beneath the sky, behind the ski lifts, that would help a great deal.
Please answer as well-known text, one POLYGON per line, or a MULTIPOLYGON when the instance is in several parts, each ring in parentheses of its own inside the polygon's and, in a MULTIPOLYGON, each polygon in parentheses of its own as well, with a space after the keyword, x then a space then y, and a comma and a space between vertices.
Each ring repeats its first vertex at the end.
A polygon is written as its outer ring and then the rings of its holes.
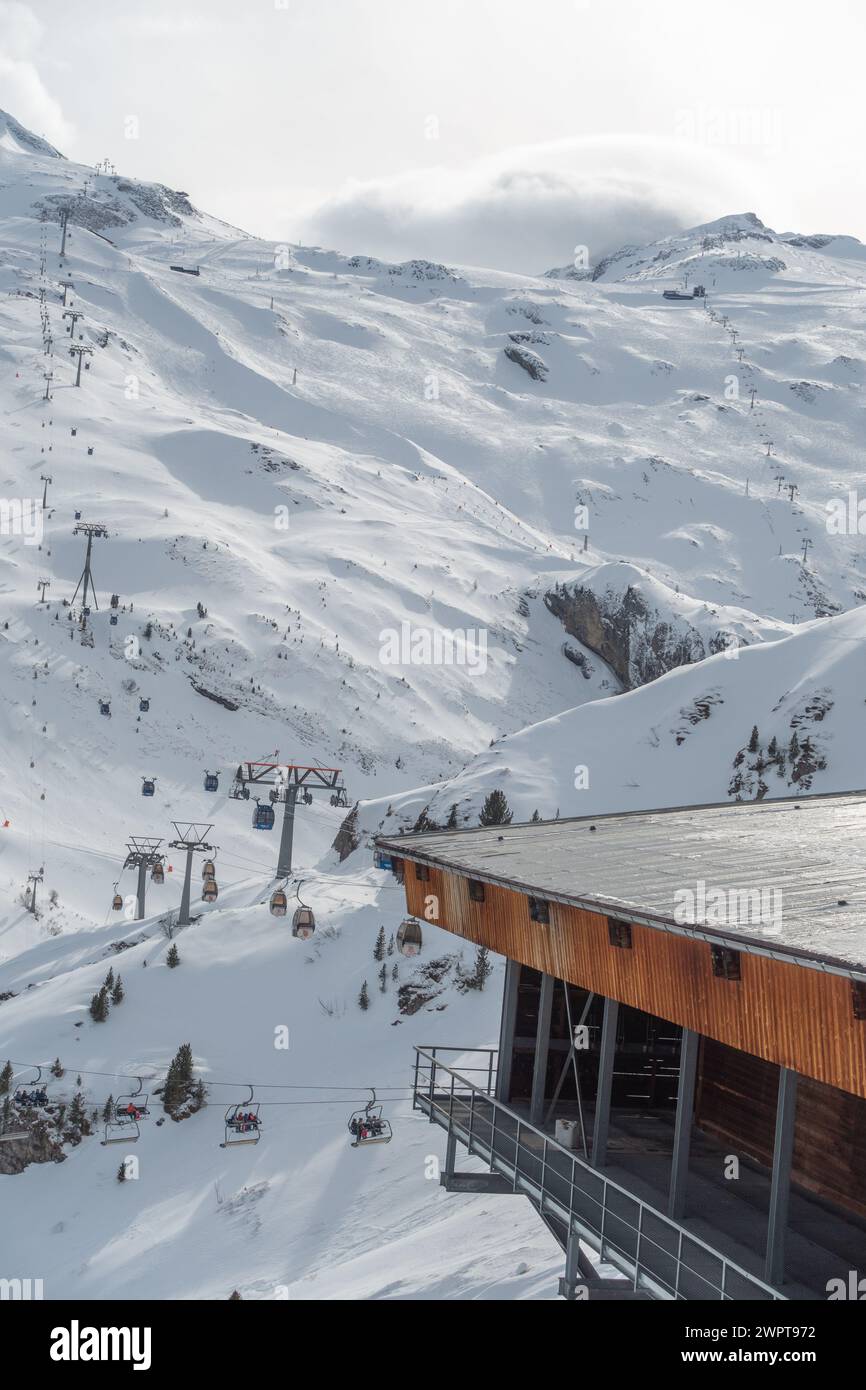
POLYGON ((31 1212, 6 1248, 53 1272, 46 1297, 550 1294, 528 1208, 424 1176, 411 1044, 493 1042, 499 976, 467 988, 471 960, 425 929, 379 992, 400 894, 367 842, 425 808, 471 821, 492 785, 528 816, 862 780, 862 253, 741 217, 589 279, 392 265, 247 236, 0 115, 0 1063, 60 1056, 56 1094, 81 1072, 101 1108, 113 1073, 157 1079, 190 1041, 210 1084, 146 1127, 136 1183, 95 1138, 0 1180, 31 1212), (706 297, 666 300, 687 275, 706 297), (83 630, 76 513, 107 528, 83 630), (342 837, 339 808, 299 809, 307 945, 267 912, 275 837, 227 796, 267 755, 342 767, 361 803, 342 837), (110 908, 126 838, 172 820, 220 847, 178 970, 179 862, 142 923, 110 908), (342 863, 335 837, 359 845, 342 863), (108 965, 126 998, 95 1023, 108 965), (228 1154, 224 1083, 245 1077, 279 1104, 267 1143, 228 1154), (368 1163, 343 1112, 371 1084, 396 1138, 368 1163), (289 1086, 341 1090, 293 1109, 289 1086), (461 1254, 470 1219, 487 1264, 461 1254))

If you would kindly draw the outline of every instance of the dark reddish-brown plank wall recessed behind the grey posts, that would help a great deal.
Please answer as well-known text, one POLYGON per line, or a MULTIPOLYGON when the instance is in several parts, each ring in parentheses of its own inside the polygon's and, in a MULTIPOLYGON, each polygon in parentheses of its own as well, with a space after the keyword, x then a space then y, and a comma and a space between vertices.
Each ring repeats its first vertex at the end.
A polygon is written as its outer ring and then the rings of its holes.
MULTIPOLYGON (((778 1068, 705 1038, 695 1123, 733 1154, 773 1162, 778 1068)), ((798 1187, 866 1216, 866 1102, 802 1077, 791 1177, 798 1187)))

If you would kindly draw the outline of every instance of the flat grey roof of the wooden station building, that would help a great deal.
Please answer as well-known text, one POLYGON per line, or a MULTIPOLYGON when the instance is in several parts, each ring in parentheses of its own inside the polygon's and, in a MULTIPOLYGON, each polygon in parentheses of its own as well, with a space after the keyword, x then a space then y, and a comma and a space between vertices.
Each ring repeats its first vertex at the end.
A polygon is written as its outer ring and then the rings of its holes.
POLYGON ((532 897, 866 976, 866 792, 377 844, 532 897))

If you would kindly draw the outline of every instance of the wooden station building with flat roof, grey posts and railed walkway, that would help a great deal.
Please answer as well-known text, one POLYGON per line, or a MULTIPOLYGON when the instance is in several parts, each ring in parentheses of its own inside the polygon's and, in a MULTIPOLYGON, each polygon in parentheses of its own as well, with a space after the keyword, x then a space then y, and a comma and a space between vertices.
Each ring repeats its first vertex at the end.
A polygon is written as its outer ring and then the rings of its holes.
POLYGON ((446 1187, 530 1197, 566 1297, 866 1297, 866 794, 377 848, 506 958, 498 1047, 416 1049, 416 1105, 446 1187))

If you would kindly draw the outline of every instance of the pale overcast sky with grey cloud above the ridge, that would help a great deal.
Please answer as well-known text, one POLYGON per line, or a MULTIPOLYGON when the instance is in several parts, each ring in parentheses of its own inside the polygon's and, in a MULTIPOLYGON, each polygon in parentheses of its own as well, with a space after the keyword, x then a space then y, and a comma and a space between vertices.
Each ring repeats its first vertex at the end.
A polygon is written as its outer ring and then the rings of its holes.
POLYGON ((0 0, 0 107, 261 236, 542 271, 724 213, 866 239, 865 29, 863 0, 0 0))

